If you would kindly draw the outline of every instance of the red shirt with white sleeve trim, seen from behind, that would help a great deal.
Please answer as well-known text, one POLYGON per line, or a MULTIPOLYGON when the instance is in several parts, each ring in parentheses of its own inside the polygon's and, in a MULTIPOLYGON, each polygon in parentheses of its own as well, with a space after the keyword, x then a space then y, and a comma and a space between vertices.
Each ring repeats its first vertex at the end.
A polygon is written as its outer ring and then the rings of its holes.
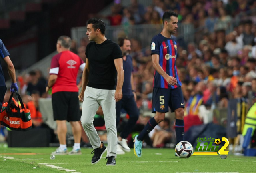
POLYGON ((73 52, 66 50, 52 58, 50 74, 57 74, 58 78, 52 86, 52 93, 60 91, 78 92, 76 78, 78 70, 84 70, 85 63, 73 52))

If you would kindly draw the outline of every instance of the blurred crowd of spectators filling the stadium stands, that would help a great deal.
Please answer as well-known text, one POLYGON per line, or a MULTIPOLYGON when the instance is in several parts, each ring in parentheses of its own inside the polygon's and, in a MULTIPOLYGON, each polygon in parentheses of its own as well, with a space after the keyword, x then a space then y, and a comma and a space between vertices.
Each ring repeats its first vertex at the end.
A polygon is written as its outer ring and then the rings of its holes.
MULTIPOLYGON (((110 24, 162 24, 162 14, 173 10, 179 14, 179 22, 193 24, 198 28, 194 42, 181 43, 178 40, 179 80, 185 99, 185 115, 198 115, 199 106, 208 109, 227 108, 228 100, 243 99, 250 106, 256 98, 256 1, 245 0, 153 0, 151 6, 142 6, 131 0, 130 6, 123 7, 115 0, 109 16, 98 16, 110 20, 110 24), (232 26, 233 30, 227 32, 232 26)), ((91 14, 90 17, 95 16, 91 14)), ((140 110, 138 126, 145 125, 146 113, 152 107, 152 81, 154 68, 150 55, 150 43, 142 48, 138 38, 130 38, 131 56, 134 66, 137 106, 140 110)), ((73 40, 71 51, 84 61, 87 38, 73 40), (78 44, 79 42, 79 44, 78 44), (79 45, 79 47, 77 46, 79 45)), ((78 76, 78 86, 81 76, 78 76)), ((34 101, 38 110, 37 97, 50 97, 45 93, 47 79, 39 70, 18 76, 24 103, 34 101)), ((10 93, 6 94, 6 99, 10 93)), ((39 115, 40 116, 40 115, 39 115)), ((38 118, 38 117, 37 117, 38 118)), ((186 124, 186 121, 185 121, 186 124)), ((173 138, 172 122, 167 120, 159 125, 168 133, 165 141, 173 138), (170 132, 170 133, 169 133, 170 132)), ((186 129, 185 129, 186 131, 186 129)), ((157 133, 157 130, 156 130, 157 133)), ((158 132, 159 133, 159 132, 158 132)), ((160 134, 159 136, 161 136, 160 134)), ((151 139, 158 139, 156 134, 151 139)), ((159 139, 158 139, 159 140, 159 139)), ((157 140, 157 141, 158 141, 157 140)), ((153 141, 154 147, 162 143, 153 141)))

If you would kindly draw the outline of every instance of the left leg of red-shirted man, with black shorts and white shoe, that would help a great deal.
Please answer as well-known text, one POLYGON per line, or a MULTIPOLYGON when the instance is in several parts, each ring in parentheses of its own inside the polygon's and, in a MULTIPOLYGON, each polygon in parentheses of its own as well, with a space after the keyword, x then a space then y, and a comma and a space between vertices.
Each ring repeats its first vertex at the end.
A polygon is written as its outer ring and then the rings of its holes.
POLYGON ((52 94, 52 108, 53 117, 57 123, 57 135, 60 142, 60 147, 58 147, 52 154, 68 154, 66 145, 68 99, 66 98, 65 92, 57 92, 52 94))

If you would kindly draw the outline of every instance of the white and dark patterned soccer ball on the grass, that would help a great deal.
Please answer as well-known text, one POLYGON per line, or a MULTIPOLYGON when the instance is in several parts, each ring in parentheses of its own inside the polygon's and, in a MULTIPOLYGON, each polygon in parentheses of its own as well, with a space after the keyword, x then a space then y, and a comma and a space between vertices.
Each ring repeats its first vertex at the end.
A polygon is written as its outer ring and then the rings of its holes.
POLYGON ((176 145, 175 153, 180 158, 188 158, 193 153, 193 146, 188 141, 181 141, 176 145))

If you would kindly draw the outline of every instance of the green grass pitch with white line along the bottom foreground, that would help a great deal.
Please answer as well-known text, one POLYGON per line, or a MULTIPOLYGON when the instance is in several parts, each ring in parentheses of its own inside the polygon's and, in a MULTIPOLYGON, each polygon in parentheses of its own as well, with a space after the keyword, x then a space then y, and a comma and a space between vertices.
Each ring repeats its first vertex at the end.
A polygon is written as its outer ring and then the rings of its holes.
MULTIPOLYGON (((142 149, 137 158, 133 150, 118 155, 116 166, 106 166, 106 153, 96 165, 90 163, 92 149, 82 148, 82 155, 56 155, 56 148, 0 147, 0 173, 250 173, 256 172, 256 157, 196 155, 188 159, 174 156, 174 149, 142 149), (20 155, 18 153, 36 153, 20 155)), ((71 151, 71 148, 68 148, 71 151)))

